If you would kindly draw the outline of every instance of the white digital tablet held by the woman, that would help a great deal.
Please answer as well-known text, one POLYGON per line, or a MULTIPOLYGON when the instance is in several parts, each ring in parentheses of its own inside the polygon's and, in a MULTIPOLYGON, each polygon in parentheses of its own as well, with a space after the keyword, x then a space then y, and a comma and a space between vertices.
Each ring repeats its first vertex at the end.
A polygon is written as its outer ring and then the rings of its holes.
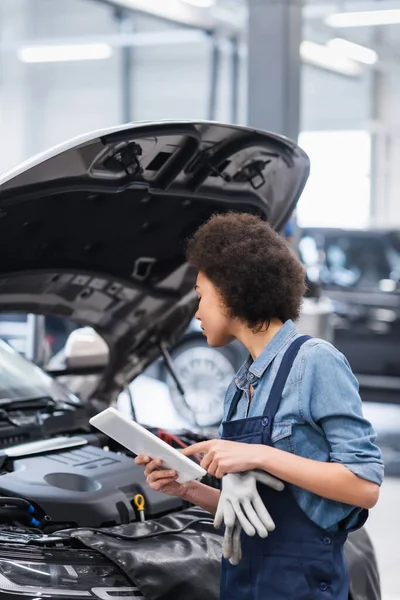
POLYGON ((207 471, 115 408, 106 408, 89 423, 134 454, 161 458, 163 467, 179 475, 178 483, 201 479, 207 471))

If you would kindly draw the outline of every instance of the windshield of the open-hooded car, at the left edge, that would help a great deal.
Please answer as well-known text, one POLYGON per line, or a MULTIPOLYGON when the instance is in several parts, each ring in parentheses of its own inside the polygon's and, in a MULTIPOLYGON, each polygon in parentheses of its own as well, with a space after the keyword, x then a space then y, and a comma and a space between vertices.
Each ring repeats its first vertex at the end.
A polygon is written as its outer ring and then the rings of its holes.
POLYGON ((0 340, 0 399, 39 396, 79 404, 76 396, 0 340))

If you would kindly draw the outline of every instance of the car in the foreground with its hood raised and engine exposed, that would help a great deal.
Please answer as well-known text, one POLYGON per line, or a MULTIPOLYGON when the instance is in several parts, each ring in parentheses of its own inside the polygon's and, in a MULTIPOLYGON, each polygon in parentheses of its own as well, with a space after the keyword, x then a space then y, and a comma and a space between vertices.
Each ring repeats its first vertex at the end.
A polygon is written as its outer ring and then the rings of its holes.
MULTIPOLYGON (((80 136, 0 177, 0 311, 83 325, 53 376, 94 377, 78 399, 0 343, 0 600, 218 598, 221 534, 210 515, 146 487, 129 452, 88 420, 187 330, 187 237, 226 211, 279 230, 308 171, 281 136, 164 122, 80 136), (103 345, 91 346, 91 330, 103 345)), ((201 439, 160 435, 178 446, 201 439)), ((369 555, 353 555, 357 577, 374 570, 369 555)))

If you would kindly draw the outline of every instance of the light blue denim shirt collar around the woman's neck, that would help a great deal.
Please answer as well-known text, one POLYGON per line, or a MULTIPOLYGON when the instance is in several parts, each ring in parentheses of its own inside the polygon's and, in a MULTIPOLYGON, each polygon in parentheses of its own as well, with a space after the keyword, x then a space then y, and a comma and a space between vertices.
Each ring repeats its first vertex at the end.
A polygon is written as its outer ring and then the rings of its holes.
POLYGON ((236 384, 242 387, 248 381, 248 373, 254 375, 257 379, 263 375, 274 358, 279 352, 298 335, 299 331, 291 319, 286 321, 282 327, 276 332, 272 340, 267 344, 264 350, 256 360, 253 361, 251 356, 239 369, 236 377, 236 384))

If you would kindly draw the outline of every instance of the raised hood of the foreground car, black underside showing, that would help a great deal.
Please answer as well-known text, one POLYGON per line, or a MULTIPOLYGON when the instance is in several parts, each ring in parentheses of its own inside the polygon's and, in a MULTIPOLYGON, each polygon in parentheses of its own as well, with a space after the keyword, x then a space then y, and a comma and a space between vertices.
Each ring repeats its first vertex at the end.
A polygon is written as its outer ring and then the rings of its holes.
POLYGON ((0 311, 94 327, 110 346, 110 399, 193 316, 185 241, 216 212, 279 230, 309 173, 292 141, 209 122, 80 136, 0 177, 0 311))

